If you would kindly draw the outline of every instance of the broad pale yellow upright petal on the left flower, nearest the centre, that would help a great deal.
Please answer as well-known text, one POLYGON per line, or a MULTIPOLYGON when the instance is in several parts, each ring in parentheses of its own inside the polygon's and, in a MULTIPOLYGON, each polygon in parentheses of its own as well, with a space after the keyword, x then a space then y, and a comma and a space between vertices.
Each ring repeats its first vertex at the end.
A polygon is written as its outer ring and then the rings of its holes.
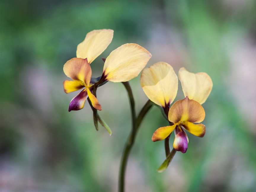
POLYGON ((150 52, 138 44, 127 43, 106 58, 103 73, 112 82, 129 81, 138 76, 151 58, 150 52))

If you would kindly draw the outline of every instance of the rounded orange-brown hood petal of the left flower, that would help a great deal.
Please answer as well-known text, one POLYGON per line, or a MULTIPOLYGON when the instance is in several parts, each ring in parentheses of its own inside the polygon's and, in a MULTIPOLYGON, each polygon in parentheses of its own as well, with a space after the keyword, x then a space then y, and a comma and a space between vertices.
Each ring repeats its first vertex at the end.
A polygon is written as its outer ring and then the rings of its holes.
POLYGON ((63 71, 65 75, 71 79, 82 81, 89 86, 92 77, 92 69, 87 59, 72 58, 64 64, 63 71))

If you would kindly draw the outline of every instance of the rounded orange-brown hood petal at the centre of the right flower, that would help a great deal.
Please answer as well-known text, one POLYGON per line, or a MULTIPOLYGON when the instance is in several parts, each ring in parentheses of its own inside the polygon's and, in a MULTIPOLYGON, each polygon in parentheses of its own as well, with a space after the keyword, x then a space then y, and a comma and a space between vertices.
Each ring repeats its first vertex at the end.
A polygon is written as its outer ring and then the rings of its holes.
POLYGON ((179 121, 190 121, 200 123, 204 121, 205 111, 202 105, 197 101, 186 97, 183 100, 176 101, 169 109, 168 119, 173 123, 179 121))

